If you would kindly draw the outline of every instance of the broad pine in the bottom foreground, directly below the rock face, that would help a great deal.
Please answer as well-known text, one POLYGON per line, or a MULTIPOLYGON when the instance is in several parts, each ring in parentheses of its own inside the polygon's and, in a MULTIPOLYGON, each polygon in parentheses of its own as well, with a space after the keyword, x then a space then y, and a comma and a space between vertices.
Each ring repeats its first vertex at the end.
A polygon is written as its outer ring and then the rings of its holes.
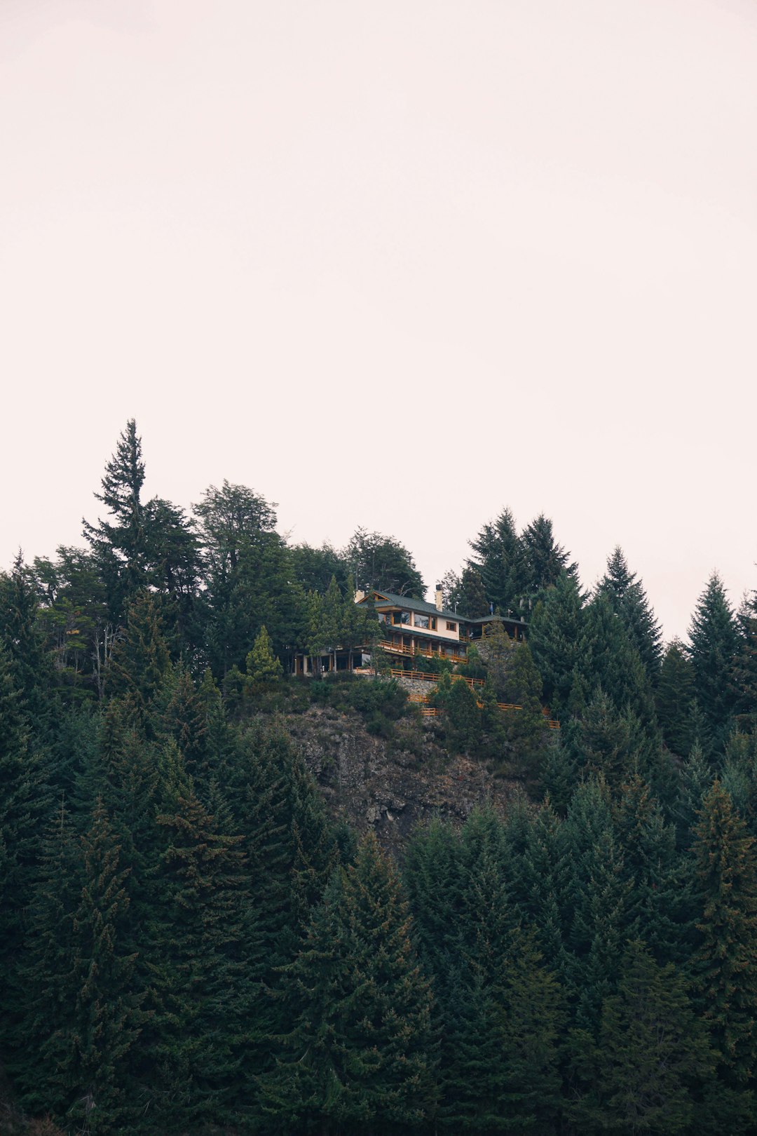
POLYGON ((431 992, 407 904, 375 836, 333 877, 301 953, 284 971, 300 1010, 262 1084, 269 1125, 333 1134, 412 1129, 436 1101, 431 992))

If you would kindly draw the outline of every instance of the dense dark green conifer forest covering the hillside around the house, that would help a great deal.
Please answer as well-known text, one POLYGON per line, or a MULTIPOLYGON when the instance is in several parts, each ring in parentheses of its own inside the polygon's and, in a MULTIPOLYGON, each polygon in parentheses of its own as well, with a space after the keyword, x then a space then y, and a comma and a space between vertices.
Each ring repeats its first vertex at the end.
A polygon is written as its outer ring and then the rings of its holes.
POLYGON ((0 1134, 757 1133, 757 591, 664 643, 620 548, 587 591, 503 508, 444 600, 525 642, 419 660, 423 717, 354 602, 424 595, 398 541, 144 478, 129 420, 82 545, 0 574, 0 1134), (292 674, 336 642, 373 674, 292 674), (389 854, 297 743, 326 712, 506 807, 389 854))

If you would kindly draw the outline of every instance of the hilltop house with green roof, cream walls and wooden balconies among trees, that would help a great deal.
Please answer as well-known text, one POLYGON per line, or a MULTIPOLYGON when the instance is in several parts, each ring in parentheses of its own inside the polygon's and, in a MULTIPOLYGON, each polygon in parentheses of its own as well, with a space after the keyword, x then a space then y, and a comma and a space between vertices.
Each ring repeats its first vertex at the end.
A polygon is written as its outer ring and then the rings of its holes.
MULTIPOLYGON (((522 619, 498 615, 463 619, 456 611, 447 610, 438 584, 434 603, 392 592, 379 592, 377 588, 367 594, 358 592, 355 602, 376 605, 381 630, 379 645, 399 669, 412 669, 412 659, 418 655, 427 659, 437 655, 452 662, 465 662, 469 644, 480 640, 486 634, 486 628, 493 624, 501 624, 511 638, 524 637, 525 624, 522 619)), ((350 652, 344 648, 333 646, 320 657, 321 671, 358 669, 369 661, 369 651, 368 644, 350 652)), ((318 661, 316 666, 319 666, 318 661)), ((295 655, 294 673, 311 673, 306 655, 295 655)))

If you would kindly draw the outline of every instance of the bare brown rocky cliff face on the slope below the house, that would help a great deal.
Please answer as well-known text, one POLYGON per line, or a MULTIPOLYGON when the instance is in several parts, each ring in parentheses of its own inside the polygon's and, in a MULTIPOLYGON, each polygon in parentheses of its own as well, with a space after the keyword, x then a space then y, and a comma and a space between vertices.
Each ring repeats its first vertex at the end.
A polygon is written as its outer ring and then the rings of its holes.
POLYGON ((402 854, 413 826, 435 815, 463 821, 474 804, 504 804, 512 783, 482 761, 451 758, 435 744, 431 724, 403 720, 390 741, 371 736, 356 715, 312 708, 287 718, 329 811, 358 832, 376 829, 402 854))

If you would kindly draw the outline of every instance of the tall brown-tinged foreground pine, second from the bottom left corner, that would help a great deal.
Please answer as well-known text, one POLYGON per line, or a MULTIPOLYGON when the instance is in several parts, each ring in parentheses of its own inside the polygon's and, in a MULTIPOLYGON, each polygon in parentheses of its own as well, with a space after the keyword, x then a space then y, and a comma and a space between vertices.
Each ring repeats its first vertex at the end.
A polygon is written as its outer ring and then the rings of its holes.
MULTIPOLYGON (((242 836, 197 800, 180 755, 162 776, 166 834, 144 929, 151 1021, 141 1046, 143 1106, 167 1134, 238 1119, 242 1022, 253 1002, 244 943, 254 933, 242 836)), ((250 1102, 246 1102, 249 1108, 250 1102)))

